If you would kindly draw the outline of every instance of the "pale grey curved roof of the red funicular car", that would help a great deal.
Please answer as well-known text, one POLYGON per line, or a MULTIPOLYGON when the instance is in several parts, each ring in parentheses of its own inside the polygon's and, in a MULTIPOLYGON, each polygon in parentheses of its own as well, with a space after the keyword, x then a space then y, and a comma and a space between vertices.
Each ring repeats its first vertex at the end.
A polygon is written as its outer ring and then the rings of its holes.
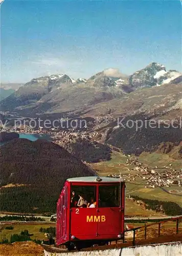
POLYGON ((123 179, 110 178, 110 177, 89 176, 89 177, 70 178, 70 179, 67 179, 67 181, 70 181, 70 182, 98 182, 98 183, 102 183, 102 182, 120 182, 120 181, 123 182, 123 179), (101 180, 98 181, 98 180, 96 180, 97 178, 100 178, 101 180))

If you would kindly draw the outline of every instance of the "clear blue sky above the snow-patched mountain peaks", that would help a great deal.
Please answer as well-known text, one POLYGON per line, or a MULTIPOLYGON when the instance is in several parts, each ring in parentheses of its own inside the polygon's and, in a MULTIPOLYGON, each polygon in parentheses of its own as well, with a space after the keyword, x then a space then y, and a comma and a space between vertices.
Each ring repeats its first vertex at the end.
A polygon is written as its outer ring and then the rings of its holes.
POLYGON ((181 71, 180 1, 9 1, 1 6, 1 81, 55 73, 181 71))

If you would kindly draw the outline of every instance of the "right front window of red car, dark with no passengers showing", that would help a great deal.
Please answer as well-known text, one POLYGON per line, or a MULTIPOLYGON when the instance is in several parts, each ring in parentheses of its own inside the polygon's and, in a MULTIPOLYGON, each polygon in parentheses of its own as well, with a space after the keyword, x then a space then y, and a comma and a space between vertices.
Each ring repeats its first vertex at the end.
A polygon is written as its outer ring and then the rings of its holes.
POLYGON ((120 186, 99 186, 99 207, 119 207, 120 186))

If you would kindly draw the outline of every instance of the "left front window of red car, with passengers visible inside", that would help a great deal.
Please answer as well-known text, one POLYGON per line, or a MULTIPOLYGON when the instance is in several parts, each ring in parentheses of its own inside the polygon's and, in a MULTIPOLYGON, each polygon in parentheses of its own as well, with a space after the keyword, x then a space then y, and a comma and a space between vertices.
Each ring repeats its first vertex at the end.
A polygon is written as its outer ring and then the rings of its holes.
POLYGON ((87 204, 96 200, 96 186, 72 186, 71 193, 71 207, 79 207, 80 197, 82 197, 83 207, 87 207, 87 204))

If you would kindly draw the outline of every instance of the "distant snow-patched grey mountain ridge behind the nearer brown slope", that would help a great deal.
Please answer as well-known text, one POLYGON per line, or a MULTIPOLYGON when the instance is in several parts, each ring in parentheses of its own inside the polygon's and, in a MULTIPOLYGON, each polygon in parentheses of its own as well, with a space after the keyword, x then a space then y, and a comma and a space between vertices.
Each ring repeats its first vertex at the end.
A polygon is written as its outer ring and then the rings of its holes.
POLYGON ((106 69, 89 79, 73 79, 53 74, 32 79, 1 103, 2 111, 34 115, 41 113, 83 112, 89 106, 122 99, 136 89, 181 82, 182 74, 152 62, 131 76, 117 69, 106 69))

